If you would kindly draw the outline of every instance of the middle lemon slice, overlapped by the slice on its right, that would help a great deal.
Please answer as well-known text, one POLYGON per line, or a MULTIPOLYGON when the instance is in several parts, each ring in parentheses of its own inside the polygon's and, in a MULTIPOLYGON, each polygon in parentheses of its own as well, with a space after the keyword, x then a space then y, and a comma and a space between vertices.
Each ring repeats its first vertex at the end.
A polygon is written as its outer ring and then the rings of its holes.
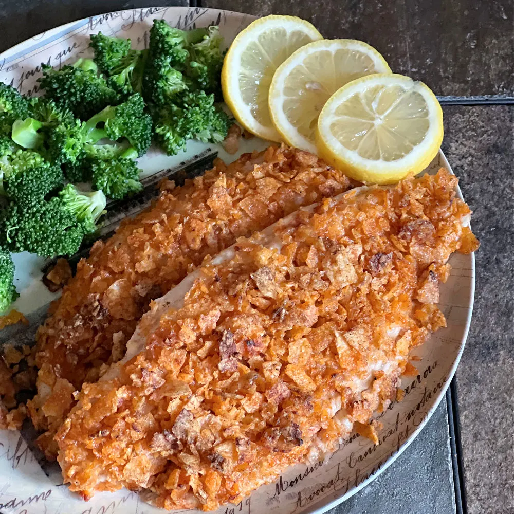
POLYGON ((322 40, 302 46, 271 81, 268 105, 273 124, 288 144, 315 153, 314 136, 325 102, 348 82, 374 73, 391 69, 362 41, 322 40))

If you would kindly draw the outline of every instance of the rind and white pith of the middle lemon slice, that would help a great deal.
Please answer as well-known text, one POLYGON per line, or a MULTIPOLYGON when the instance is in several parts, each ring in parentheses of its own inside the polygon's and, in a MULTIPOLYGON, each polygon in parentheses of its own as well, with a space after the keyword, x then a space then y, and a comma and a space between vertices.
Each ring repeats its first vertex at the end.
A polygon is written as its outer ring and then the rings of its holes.
MULTIPOLYGON (((290 122, 284 112, 284 101, 287 98, 284 93, 284 87, 287 84, 287 78, 289 74, 295 68, 302 66, 302 63, 308 56, 312 56, 317 52, 326 51, 334 54, 334 52, 339 50, 359 52, 365 57, 371 58, 375 69, 370 72, 363 70, 362 76, 378 73, 391 73, 391 68, 389 67, 386 60, 382 57, 382 55, 371 45, 368 45, 368 43, 364 43, 363 41, 354 39, 321 40, 314 41, 313 43, 309 43, 299 48, 277 68, 269 89, 268 105, 271 119, 275 128, 277 129, 277 132, 287 144, 296 146, 296 148, 301 148, 302 150, 306 150, 308 152, 317 152, 314 138, 309 139, 301 134, 290 122)), ((333 66, 333 63, 327 63, 326 65, 333 66)), ((355 70, 353 71, 355 72, 355 70)), ((344 73, 344 70, 339 69, 338 72, 341 74, 341 72, 344 73)), ((343 85, 345 84, 336 84, 334 82, 333 84, 326 84, 325 87, 326 89, 329 89, 331 93, 335 93, 336 90, 343 85)), ((303 84, 299 84, 299 86, 300 88, 303 88, 303 84)), ((299 105, 299 109, 301 109, 301 105, 299 105)))

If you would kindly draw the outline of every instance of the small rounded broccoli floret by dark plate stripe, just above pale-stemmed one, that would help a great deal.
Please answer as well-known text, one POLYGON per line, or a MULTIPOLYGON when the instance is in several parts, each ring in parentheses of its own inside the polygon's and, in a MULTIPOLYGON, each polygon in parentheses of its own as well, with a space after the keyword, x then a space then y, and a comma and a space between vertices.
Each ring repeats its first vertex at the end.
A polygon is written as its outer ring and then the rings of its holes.
POLYGON ((95 189, 119 200, 143 189, 140 171, 132 159, 96 160, 91 163, 91 182, 95 189))

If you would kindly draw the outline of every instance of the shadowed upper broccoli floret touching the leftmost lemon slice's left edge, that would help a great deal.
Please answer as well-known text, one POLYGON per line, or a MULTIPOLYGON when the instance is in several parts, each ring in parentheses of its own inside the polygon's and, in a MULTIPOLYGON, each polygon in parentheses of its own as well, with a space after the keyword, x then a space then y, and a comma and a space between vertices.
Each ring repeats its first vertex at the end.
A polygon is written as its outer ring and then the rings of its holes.
POLYGON ((220 77, 225 52, 221 50, 223 38, 218 27, 209 27, 209 33, 199 43, 189 48, 188 76, 206 93, 214 93, 216 100, 222 100, 220 77))

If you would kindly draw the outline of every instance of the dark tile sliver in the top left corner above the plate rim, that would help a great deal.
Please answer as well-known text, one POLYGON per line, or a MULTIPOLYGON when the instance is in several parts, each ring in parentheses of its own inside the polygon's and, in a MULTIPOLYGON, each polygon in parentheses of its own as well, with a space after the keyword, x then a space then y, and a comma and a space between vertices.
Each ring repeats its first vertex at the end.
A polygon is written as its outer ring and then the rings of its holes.
POLYGON ((188 6, 189 0, 0 0, 0 52, 40 32, 95 14, 167 5, 188 6))

